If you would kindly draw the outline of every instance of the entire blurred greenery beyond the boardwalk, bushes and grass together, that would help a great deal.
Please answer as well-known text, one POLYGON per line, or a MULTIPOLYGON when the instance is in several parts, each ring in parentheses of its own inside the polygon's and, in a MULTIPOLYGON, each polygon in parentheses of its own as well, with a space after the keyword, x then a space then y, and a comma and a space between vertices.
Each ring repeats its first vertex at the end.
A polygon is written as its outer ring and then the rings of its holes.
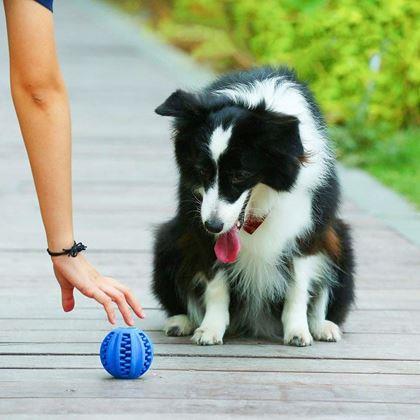
POLYGON ((104 0, 216 72, 286 64, 339 158, 420 207, 420 2, 104 0))

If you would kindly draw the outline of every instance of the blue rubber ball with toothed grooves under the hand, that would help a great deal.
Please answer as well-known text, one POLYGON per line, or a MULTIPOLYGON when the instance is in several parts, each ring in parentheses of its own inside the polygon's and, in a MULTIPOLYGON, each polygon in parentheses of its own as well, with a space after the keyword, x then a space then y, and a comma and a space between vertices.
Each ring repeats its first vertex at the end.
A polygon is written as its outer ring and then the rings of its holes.
POLYGON ((101 363, 114 378, 136 379, 152 364, 153 344, 138 328, 116 328, 102 341, 101 363))

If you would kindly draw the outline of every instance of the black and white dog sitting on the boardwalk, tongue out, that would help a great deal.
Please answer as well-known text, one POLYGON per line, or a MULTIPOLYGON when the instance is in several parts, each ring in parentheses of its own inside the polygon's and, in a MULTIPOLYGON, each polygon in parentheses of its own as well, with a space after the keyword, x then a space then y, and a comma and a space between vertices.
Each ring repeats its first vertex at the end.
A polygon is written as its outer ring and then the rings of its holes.
POLYGON ((286 68, 225 75, 160 105, 174 117, 176 216, 161 225, 153 291, 171 336, 225 332, 338 341, 354 300, 348 227, 326 127, 286 68))

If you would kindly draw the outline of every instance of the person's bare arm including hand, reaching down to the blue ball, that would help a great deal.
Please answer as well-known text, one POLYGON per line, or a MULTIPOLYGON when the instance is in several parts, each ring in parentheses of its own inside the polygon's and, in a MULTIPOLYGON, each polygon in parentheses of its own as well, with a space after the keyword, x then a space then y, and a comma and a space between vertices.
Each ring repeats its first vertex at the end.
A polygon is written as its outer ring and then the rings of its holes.
MULTIPOLYGON (((13 102, 31 164, 48 248, 73 245, 71 121, 54 41, 53 17, 35 1, 4 0, 13 102)), ((74 308, 74 288, 104 306, 115 323, 116 302, 125 322, 131 310, 143 317, 133 293, 102 276, 83 254, 53 257, 65 311, 74 308)))

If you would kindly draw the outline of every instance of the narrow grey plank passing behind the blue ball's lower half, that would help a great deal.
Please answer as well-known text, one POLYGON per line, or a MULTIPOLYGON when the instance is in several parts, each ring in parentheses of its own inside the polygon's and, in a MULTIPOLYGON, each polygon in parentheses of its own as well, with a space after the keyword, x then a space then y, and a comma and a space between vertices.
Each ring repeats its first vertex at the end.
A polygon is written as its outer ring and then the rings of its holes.
MULTIPOLYGON (((2 356, 0 369, 102 369, 98 355, 2 356)), ((420 375, 417 361, 155 356, 153 370, 420 375)), ((1 377, 1 373, 0 373, 1 377)))

